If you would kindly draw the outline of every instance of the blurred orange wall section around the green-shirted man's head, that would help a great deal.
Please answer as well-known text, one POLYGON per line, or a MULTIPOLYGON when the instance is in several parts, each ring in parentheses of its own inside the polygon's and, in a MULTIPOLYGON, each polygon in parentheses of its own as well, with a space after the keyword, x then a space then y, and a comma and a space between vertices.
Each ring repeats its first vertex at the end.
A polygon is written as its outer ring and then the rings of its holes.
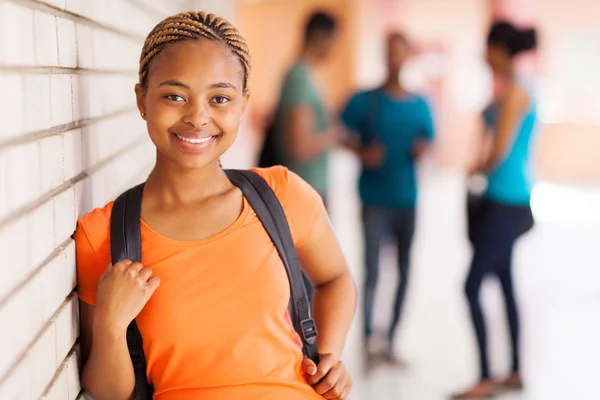
POLYGON ((341 23, 337 47, 319 70, 319 87, 332 110, 346 101, 352 87, 356 32, 351 0, 240 1, 239 26, 252 54, 252 115, 264 118, 273 112, 287 69, 298 57, 306 19, 311 11, 323 9, 341 23))

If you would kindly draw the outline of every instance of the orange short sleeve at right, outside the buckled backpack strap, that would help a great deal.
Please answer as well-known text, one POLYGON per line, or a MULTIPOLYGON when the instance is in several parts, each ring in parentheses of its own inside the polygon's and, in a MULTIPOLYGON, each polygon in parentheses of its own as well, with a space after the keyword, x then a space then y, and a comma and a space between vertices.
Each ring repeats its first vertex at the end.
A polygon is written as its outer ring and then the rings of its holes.
POLYGON ((275 191, 285 211, 295 246, 310 239, 315 223, 325 212, 323 199, 306 181, 285 167, 257 169, 275 191))

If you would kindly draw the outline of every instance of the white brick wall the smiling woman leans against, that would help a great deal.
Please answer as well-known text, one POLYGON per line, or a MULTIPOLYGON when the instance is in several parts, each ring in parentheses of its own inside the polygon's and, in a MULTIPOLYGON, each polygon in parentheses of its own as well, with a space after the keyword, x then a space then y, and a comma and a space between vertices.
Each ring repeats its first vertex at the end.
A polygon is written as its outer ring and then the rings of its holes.
POLYGON ((133 93, 143 39, 168 14, 231 18, 233 3, 0 1, 0 399, 81 398, 71 235, 152 166, 133 93))

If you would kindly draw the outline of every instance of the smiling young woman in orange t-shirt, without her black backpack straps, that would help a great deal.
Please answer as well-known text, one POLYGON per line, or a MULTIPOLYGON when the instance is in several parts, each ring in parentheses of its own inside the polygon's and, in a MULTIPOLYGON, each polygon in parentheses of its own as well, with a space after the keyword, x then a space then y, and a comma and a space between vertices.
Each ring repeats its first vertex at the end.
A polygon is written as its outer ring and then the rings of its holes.
POLYGON ((256 214, 226 177, 248 103, 249 52, 222 18, 182 13, 144 44, 137 104, 156 146, 142 200, 142 263, 110 265, 113 203, 75 233, 82 384, 129 399, 126 329, 136 318, 154 398, 345 399, 340 355, 355 288, 319 194, 282 167, 257 172, 276 192, 315 286, 319 365, 303 358, 287 312, 289 281, 256 214), (108 265, 108 266, 107 266, 108 265))

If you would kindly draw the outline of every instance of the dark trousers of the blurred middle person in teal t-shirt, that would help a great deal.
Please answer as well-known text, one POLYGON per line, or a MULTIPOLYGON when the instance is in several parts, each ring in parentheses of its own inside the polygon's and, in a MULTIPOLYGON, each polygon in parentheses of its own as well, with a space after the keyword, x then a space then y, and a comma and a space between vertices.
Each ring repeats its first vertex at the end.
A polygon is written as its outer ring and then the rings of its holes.
POLYGON ((406 286, 408 283, 409 253, 415 231, 415 210, 384 209, 364 206, 362 210, 363 232, 365 241, 366 279, 364 286, 364 334, 373 333, 373 302, 379 278, 379 250, 384 238, 391 237, 398 247, 398 288, 394 301, 392 321, 388 331, 390 344, 393 341, 396 327, 402 313, 406 286))

